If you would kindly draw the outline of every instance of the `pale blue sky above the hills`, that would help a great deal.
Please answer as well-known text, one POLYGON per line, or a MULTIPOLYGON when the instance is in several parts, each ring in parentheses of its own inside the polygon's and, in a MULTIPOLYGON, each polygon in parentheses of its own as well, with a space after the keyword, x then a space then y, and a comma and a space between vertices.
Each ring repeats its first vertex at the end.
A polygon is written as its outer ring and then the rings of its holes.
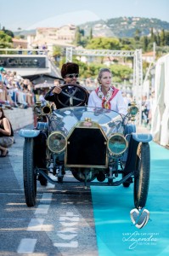
POLYGON ((0 0, 0 24, 17 31, 40 26, 80 25, 120 16, 169 22, 169 0, 0 0))

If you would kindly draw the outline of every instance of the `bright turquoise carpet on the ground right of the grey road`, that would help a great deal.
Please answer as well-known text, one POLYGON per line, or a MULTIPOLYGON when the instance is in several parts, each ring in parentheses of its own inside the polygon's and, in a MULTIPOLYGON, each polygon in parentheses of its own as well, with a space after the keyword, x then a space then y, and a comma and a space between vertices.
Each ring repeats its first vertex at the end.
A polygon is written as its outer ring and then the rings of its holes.
POLYGON ((169 150, 153 142, 149 145, 151 173, 145 208, 150 220, 144 228, 136 228, 130 218, 133 184, 91 187, 99 256, 169 255, 169 150))

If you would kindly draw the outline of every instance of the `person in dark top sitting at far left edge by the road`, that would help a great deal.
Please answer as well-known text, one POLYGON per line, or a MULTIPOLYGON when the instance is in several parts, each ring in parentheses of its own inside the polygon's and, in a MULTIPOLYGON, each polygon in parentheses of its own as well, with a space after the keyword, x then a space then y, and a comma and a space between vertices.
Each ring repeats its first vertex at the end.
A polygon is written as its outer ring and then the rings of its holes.
POLYGON ((8 147, 14 143, 14 131, 8 118, 5 117, 3 108, 0 107, 0 157, 8 155, 8 147))

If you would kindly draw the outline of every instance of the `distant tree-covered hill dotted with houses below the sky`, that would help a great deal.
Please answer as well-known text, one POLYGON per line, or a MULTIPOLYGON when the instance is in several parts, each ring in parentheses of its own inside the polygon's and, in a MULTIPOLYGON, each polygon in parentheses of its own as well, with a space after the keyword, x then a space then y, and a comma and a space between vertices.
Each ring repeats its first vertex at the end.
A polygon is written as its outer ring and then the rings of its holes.
POLYGON ((92 28, 94 37, 109 38, 132 38, 137 29, 140 31, 140 36, 149 35, 152 27, 154 32, 161 32, 162 29, 169 31, 169 22, 139 17, 119 17, 87 22, 80 25, 80 28, 84 29, 86 36, 89 35, 92 28))

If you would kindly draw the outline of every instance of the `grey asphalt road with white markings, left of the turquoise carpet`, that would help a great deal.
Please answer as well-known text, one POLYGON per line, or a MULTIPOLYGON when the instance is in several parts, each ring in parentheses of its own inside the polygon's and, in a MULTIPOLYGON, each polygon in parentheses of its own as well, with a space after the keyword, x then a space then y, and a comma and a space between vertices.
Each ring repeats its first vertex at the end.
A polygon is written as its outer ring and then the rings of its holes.
POLYGON ((73 187, 64 183, 42 187, 37 182, 37 204, 27 207, 22 174, 24 138, 18 131, 14 137, 9 155, 0 158, 0 256, 97 256, 90 188, 84 189, 78 182, 73 187), (25 241, 29 241, 26 246, 25 241), (26 253, 29 246, 32 252, 26 253))

